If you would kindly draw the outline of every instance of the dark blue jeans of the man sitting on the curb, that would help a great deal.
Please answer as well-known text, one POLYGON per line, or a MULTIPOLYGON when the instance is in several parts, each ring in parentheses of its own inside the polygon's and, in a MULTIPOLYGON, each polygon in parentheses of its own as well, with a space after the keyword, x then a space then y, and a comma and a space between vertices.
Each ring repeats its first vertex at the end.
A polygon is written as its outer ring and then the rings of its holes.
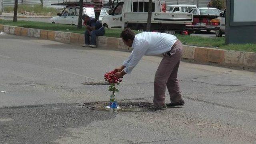
POLYGON ((100 28, 99 30, 92 30, 91 35, 89 34, 88 30, 84 32, 84 40, 85 44, 91 44, 91 45, 96 45, 96 38, 97 36, 104 36, 105 34, 105 29, 100 28), (91 40, 90 40, 91 36, 91 40))

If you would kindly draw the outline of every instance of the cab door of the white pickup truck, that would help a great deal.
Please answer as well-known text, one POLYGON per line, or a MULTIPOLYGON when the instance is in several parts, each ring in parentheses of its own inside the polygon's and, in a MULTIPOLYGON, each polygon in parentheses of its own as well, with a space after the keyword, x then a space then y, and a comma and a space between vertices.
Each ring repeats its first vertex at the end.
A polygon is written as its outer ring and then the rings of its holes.
POLYGON ((122 27, 122 10, 124 2, 119 2, 112 12, 112 27, 111 28, 121 28, 122 27))

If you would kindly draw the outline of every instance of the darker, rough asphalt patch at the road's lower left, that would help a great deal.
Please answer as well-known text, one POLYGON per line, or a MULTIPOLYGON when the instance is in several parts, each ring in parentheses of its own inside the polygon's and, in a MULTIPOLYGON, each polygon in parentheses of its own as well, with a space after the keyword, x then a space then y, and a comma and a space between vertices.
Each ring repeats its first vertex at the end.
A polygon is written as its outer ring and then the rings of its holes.
POLYGON ((57 144, 54 140, 72 136, 68 128, 115 117, 107 112, 80 108, 78 104, 3 108, 0 116, 0 144, 57 144))

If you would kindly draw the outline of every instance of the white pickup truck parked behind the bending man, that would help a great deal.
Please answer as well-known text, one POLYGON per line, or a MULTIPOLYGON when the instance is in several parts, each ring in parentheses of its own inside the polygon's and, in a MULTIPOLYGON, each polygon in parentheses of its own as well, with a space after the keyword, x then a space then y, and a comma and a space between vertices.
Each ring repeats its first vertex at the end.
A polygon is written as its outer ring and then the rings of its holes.
MULTIPOLYGON (((105 28, 145 30, 148 19, 148 0, 121 0, 109 14, 102 18, 105 28)), ((151 20, 152 31, 174 34, 185 30, 186 24, 193 22, 193 15, 162 12, 160 1, 153 0, 151 20)))

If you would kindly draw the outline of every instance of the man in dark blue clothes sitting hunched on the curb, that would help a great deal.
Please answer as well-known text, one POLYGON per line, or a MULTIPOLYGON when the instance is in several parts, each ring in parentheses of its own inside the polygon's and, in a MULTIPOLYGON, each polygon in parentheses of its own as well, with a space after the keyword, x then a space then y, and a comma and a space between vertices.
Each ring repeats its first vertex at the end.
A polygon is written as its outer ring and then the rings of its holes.
POLYGON ((85 44, 82 46, 90 46, 96 48, 97 36, 104 36, 104 26, 95 18, 91 18, 86 14, 82 15, 82 20, 86 21, 86 31, 84 32, 85 44), (91 40, 90 40, 91 37, 91 40))

